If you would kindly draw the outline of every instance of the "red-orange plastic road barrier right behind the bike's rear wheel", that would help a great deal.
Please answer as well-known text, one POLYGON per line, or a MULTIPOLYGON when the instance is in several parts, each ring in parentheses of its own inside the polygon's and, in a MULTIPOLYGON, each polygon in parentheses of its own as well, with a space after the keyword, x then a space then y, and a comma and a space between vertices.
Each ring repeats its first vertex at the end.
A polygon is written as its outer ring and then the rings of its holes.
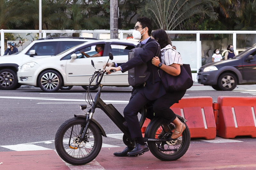
MULTIPOLYGON (((203 137, 214 139, 216 137, 216 124, 212 109, 211 97, 184 97, 179 103, 172 105, 175 114, 188 120, 187 125, 191 138, 203 137)), ((145 132, 149 120, 143 124, 142 132, 145 132)))

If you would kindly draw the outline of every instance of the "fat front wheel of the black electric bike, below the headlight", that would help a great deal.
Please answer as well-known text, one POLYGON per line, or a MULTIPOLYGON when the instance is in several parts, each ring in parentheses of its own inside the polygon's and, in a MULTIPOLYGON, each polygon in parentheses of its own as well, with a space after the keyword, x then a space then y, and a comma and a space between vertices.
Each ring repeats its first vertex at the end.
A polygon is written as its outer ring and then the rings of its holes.
POLYGON ((87 164, 100 152, 102 136, 99 127, 93 122, 90 123, 84 141, 78 142, 80 130, 85 125, 84 118, 74 117, 64 122, 55 135, 56 151, 69 164, 87 164))

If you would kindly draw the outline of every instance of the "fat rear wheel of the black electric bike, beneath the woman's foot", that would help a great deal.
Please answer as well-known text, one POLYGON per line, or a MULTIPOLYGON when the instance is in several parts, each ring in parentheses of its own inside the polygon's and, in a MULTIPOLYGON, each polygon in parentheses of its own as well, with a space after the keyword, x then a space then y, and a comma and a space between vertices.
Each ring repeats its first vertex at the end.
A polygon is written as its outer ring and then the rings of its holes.
MULTIPOLYGON (((186 123, 183 122, 185 125, 186 123)), ((145 134, 145 137, 149 138, 162 138, 162 139, 170 139, 172 136, 172 132, 165 132, 162 136, 160 133, 163 129, 164 121, 162 119, 158 119, 151 126, 150 133, 145 134), (160 136, 161 137, 160 137, 160 136)), ((170 128, 172 131, 175 129, 175 125, 171 123, 170 128)), ((157 158, 163 161, 173 161, 180 159, 187 151, 190 145, 190 132, 188 126, 186 125, 186 129, 183 131, 182 135, 178 138, 177 142, 167 140, 165 142, 154 142, 148 141, 149 151, 157 158), (173 144, 173 145, 171 145, 173 144), (175 150, 175 151, 173 151, 175 150)))

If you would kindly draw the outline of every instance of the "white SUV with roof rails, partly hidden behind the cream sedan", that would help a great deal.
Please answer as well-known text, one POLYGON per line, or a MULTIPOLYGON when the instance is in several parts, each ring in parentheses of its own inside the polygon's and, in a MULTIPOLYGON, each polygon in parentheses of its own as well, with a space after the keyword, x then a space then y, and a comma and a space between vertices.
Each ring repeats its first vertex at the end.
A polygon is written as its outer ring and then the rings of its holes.
POLYGON ((36 58, 54 56, 78 44, 97 40, 83 37, 42 38, 33 41, 22 51, 0 57, 0 89, 14 90, 20 87, 17 71, 22 63, 36 58))

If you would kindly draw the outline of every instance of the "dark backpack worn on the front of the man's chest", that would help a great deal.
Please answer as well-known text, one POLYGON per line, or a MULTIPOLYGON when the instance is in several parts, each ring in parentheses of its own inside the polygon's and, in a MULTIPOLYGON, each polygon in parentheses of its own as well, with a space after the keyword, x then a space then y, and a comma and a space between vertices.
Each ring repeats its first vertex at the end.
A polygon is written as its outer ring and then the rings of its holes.
MULTIPOLYGON (((160 54, 160 50, 161 50, 160 45, 156 41, 151 41, 149 43, 157 44, 158 48, 157 48, 157 52, 156 52, 155 56, 158 56, 160 54)), ((137 48, 131 49, 128 52, 128 60, 131 60, 135 56, 142 53, 144 51, 144 48, 146 48, 149 43, 142 46, 142 48, 137 47, 137 48)), ((148 69, 147 63, 144 63, 144 64, 137 65, 137 66, 133 67, 132 69, 128 70, 129 85, 138 86, 138 85, 144 84, 150 75, 150 72, 147 69, 148 69)))

